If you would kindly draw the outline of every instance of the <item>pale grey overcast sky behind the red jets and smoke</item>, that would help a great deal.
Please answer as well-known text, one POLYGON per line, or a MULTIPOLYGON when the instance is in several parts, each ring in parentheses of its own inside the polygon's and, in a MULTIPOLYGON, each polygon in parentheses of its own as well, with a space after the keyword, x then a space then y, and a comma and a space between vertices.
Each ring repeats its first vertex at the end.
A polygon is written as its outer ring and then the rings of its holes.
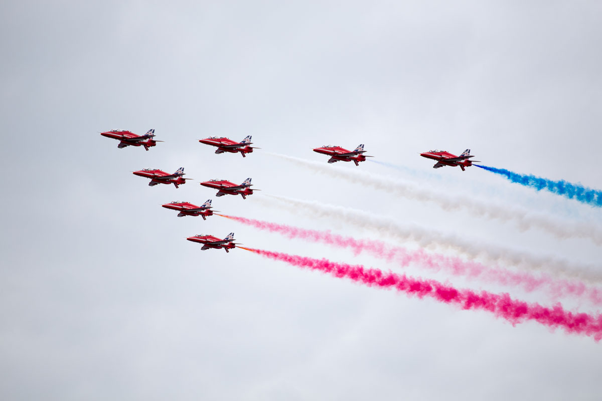
POLYGON ((311 148, 363 143, 416 173, 330 167, 600 225, 600 209, 474 167, 433 170, 417 153, 471 148, 486 165, 602 188, 601 20, 598 1, 2 2, 0 398, 600 399, 602 345, 591 337, 513 327, 242 249, 200 251, 185 237, 234 231, 254 248, 402 272, 160 204, 212 198, 232 215, 390 240, 265 195, 319 201, 599 271, 600 247, 586 239, 445 211, 266 152, 326 164, 311 148), (151 128, 165 142, 149 152, 99 135, 151 128), (262 149, 215 155, 197 142, 209 135, 253 135, 262 149), (149 187, 131 174, 147 167, 184 167, 193 180, 149 187), (262 189, 247 200, 199 186, 247 177, 262 189))

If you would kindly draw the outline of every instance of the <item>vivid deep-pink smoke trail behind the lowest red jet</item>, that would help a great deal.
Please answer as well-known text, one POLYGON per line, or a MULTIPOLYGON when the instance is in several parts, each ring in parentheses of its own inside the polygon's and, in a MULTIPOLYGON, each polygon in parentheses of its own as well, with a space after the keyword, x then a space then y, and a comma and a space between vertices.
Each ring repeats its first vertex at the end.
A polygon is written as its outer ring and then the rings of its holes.
POLYGON ((366 269, 361 265, 347 265, 347 263, 335 263, 326 259, 312 259, 262 249, 247 248, 247 250, 300 268, 329 273, 339 278, 349 278, 352 281, 366 284, 368 287, 394 288, 408 295, 418 296, 418 298, 429 296, 436 301, 458 305, 465 310, 486 310, 496 317, 506 319, 513 326, 526 320, 535 320, 552 329, 561 327, 567 333, 585 334, 594 337, 595 341, 602 339, 601 314, 594 316, 587 313, 565 311, 560 303, 551 308, 543 307, 539 304, 529 304, 512 299, 507 293, 494 294, 486 291, 477 293, 465 289, 458 290, 435 280, 421 280, 394 274, 390 271, 366 269))

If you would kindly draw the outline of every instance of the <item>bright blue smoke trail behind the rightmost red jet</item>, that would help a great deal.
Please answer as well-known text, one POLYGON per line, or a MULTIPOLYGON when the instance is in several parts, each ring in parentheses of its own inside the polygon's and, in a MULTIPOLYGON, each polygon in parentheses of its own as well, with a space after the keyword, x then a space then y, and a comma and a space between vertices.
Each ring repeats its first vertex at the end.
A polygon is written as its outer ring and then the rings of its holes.
POLYGON ((500 174, 500 176, 504 176, 512 182, 524 186, 530 186, 538 191, 547 189, 553 194, 562 195, 568 199, 575 199, 581 203, 589 204, 590 206, 602 207, 602 191, 597 191, 596 189, 587 188, 579 184, 572 184, 566 182, 565 180, 553 181, 542 177, 532 176, 531 174, 527 175, 513 173, 505 168, 495 168, 476 164, 473 165, 482 168, 483 170, 500 174))

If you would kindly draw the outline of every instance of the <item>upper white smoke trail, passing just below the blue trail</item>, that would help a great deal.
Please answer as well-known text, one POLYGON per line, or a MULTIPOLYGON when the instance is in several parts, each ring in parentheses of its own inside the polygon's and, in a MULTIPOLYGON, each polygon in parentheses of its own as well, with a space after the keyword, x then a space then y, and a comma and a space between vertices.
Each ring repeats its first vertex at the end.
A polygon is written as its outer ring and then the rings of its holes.
POLYGON ((279 153, 264 152, 271 156, 285 159, 297 165, 302 165, 316 173, 329 174, 330 176, 347 180, 355 184, 371 187, 390 194, 399 195, 408 199, 421 202, 438 204, 444 210, 466 210, 471 215, 482 216, 487 219, 514 222, 519 230, 526 231, 539 228, 560 238, 586 238, 596 245, 602 245, 602 231, 586 222, 557 221, 547 215, 535 214, 518 207, 506 207, 489 204, 474 198, 441 194, 427 188, 421 188, 414 183, 404 182, 390 177, 367 173, 358 169, 343 169, 317 163, 293 156, 280 155, 279 153))

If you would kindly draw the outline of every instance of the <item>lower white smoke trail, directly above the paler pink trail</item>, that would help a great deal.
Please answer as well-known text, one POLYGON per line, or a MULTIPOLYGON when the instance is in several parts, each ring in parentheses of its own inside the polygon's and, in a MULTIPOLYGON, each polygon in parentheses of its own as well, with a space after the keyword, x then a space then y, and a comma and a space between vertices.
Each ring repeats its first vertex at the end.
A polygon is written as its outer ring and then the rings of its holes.
POLYGON ((275 195, 256 197, 255 200, 267 202, 270 206, 280 206, 292 212, 303 212, 311 217, 330 219, 357 228, 377 231, 379 234, 400 242, 415 242, 423 248, 453 249, 467 257, 480 258, 486 262, 515 266, 524 270, 538 271, 541 269, 564 277, 579 278, 591 284, 602 283, 602 272, 595 271, 596 269, 600 270, 596 266, 581 265, 553 257, 538 257, 497 245, 462 240, 455 234, 444 234, 416 225, 403 225, 387 216, 375 215, 364 210, 275 195))

